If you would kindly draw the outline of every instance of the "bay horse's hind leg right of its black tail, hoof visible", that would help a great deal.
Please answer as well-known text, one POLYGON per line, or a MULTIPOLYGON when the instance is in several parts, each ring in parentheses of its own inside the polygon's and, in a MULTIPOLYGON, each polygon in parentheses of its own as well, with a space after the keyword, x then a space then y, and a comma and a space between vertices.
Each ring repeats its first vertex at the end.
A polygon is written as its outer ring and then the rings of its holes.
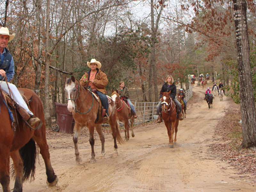
MULTIPOLYGON (((42 129, 42 128, 41 128, 42 129)), ((55 175, 51 160, 50 160, 50 153, 49 153, 49 146, 46 141, 45 133, 37 134, 37 131, 35 132, 35 136, 33 139, 36 141, 38 147, 40 148, 40 154, 42 155, 44 159, 45 169, 46 169, 46 175, 47 175, 47 185, 49 186, 56 186, 58 182, 58 177, 55 175)))

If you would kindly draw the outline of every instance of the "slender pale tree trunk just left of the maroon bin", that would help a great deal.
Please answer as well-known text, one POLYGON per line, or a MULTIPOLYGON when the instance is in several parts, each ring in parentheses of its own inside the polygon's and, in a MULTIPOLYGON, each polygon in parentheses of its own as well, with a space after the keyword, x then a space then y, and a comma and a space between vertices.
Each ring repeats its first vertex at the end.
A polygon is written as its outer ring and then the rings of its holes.
POLYGON ((49 65, 50 65, 50 0, 46 3, 46 38, 45 38, 45 79, 44 79, 44 116, 47 127, 51 127, 51 114, 50 114, 50 103, 49 103, 49 65))

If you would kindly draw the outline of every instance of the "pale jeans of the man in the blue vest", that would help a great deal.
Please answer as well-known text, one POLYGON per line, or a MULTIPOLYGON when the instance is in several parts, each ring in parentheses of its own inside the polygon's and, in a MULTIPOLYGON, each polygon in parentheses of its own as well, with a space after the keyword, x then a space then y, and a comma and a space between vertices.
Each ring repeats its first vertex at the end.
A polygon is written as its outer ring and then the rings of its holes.
MULTIPOLYGON (((9 93, 9 89, 8 89, 8 86, 6 84, 5 81, 0 81, 0 85, 1 85, 1 89, 6 92, 9 96, 10 96, 10 93, 9 93)), ((28 109, 28 105, 27 103, 23 100, 22 96, 20 95, 20 92, 19 90, 17 89, 17 87, 12 84, 12 83, 8 83, 9 85, 9 88, 12 92, 12 99, 22 108, 24 108, 29 115, 34 115, 29 109, 28 109)))

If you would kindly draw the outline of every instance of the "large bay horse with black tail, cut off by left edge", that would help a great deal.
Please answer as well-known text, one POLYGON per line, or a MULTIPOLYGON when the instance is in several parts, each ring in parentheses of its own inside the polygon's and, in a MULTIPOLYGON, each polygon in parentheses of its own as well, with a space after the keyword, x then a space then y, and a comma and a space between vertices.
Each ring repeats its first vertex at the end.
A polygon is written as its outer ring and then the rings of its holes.
POLYGON ((3 192, 10 192, 10 156, 13 160, 15 183, 13 191, 22 191, 22 183, 27 179, 34 179, 36 163, 36 145, 40 148, 46 168, 47 182, 50 186, 56 185, 58 178, 52 169, 49 148, 45 135, 45 120, 43 104, 36 93, 29 89, 19 89, 27 100, 29 108, 35 116, 39 117, 43 125, 40 129, 31 130, 18 115, 18 126, 14 129, 10 120, 6 102, 0 93, 0 182, 3 192))

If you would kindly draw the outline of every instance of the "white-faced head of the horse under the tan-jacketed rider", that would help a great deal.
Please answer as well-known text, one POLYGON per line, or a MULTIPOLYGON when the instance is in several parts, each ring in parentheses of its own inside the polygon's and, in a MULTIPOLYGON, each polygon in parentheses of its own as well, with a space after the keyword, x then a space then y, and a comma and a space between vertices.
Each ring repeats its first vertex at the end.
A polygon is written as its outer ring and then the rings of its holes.
POLYGON ((74 76, 65 79, 66 99, 68 100, 68 111, 75 111, 75 100, 79 94, 79 82, 74 76))

